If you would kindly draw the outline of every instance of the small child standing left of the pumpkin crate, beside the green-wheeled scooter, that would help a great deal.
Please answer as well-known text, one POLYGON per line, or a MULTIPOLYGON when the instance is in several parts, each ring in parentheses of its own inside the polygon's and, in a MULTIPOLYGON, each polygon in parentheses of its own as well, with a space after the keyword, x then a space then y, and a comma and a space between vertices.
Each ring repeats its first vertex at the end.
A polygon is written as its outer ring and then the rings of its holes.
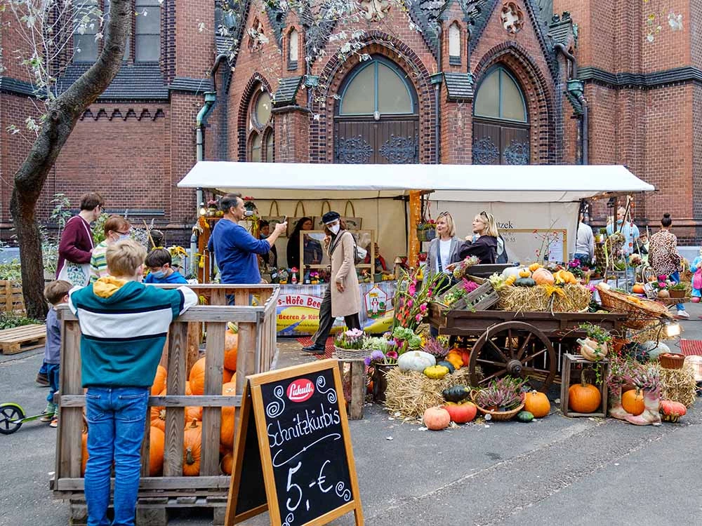
POLYGON ((53 403, 53 394, 58 391, 58 373, 61 364, 61 322, 56 317, 56 307, 68 303, 68 291, 72 283, 63 280, 52 281, 44 288, 44 297, 51 303, 46 313, 46 346, 44 346, 44 363, 48 377, 49 392, 46 396, 46 409, 41 422, 51 422, 51 427, 58 426, 58 405, 53 403))

